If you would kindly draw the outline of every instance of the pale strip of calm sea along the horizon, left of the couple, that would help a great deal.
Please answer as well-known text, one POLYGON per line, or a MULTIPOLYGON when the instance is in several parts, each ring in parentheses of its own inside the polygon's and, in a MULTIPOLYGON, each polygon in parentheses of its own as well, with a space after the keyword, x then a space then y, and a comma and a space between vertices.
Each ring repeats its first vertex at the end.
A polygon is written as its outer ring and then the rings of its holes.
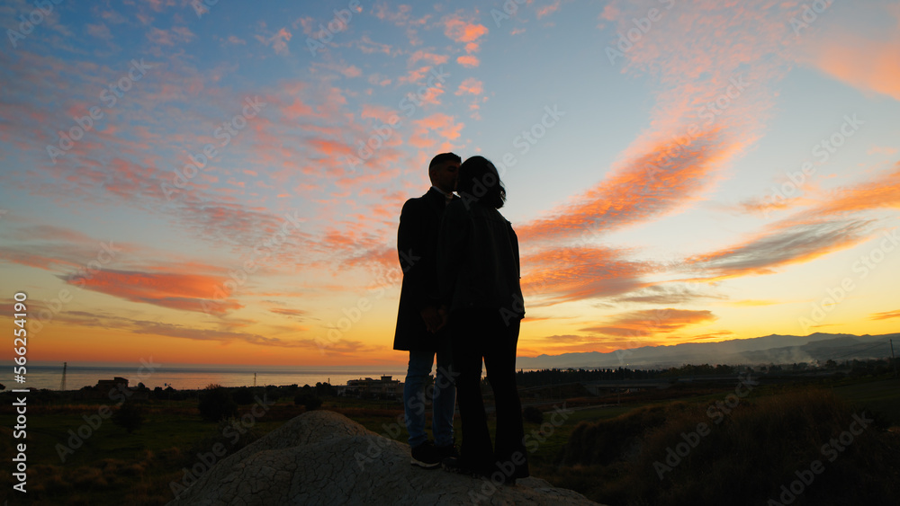
MULTIPOLYGON (((5 362, 5 361, 4 361, 5 362)), ((316 383, 347 385, 347 380, 365 377, 391 376, 401 381, 406 368, 401 365, 354 367, 288 367, 288 366, 218 366, 209 364, 87 364, 68 363, 63 374, 63 364, 26 365, 25 382, 17 383, 13 363, 2 363, 4 374, 0 383, 7 390, 12 388, 47 388, 49 390, 78 390, 83 386, 95 386, 100 379, 124 377, 129 386, 143 383, 148 388, 171 386, 176 390, 194 390, 211 384, 221 386, 315 386, 316 383), (8 372, 7 372, 8 371, 8 372)))

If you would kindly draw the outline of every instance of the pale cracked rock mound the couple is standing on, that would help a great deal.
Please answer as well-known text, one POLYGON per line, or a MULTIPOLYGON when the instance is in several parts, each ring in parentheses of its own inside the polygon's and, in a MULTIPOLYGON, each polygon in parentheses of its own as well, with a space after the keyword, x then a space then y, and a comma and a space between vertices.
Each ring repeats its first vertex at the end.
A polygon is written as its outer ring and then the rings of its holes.
POLYGON ((169 506, 594 504, 525 478, 516 485, 410 465, 410 447, 346 416, 312 411, 222 459, 169 506))

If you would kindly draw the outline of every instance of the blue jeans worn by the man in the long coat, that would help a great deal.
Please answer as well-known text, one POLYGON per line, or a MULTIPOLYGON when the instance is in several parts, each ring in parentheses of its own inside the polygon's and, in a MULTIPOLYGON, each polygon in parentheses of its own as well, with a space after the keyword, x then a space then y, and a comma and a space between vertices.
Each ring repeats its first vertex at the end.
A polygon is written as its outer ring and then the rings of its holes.
MULTIPOLYGON (((453 416, 456 409, 450 341, 442 339, 441 342, 437 351, 437 375, 431 399, 431 431, 435 435, 435 444, 439 447, 454 444, 453 416)), ((403 405, 411 448, 428 440, 428 434, 425 433, 425 379, 431 374, 435 354, 435 351, 410 351, 410 366, 403 385, 403 405)))

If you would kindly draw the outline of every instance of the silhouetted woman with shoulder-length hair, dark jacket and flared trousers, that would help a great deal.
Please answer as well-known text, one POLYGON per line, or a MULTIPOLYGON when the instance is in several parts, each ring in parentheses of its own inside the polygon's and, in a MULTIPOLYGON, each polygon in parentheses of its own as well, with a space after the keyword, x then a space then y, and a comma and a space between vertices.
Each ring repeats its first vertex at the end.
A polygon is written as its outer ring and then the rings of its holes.
POLYGON ((449 311, 463 444, 446 469, 514 484, 528 475, 522 407, 516 389, 516 346, 525 316, 519 286, 518 238, 500 209, 506 190, 482 156, 460 165, 461 199, 444 212, 437 248, 441 301, 449 311), (482 359, 497 407, 496 448, 482 401, 482 359))

